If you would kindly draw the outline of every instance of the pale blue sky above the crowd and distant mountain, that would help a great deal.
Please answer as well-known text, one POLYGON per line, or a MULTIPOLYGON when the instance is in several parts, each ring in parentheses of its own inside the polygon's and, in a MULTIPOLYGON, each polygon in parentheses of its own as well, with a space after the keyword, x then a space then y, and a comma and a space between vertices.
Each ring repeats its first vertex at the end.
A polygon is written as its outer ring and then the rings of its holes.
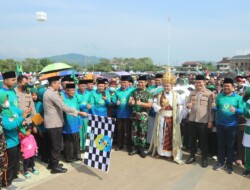
POLYGON ((11 0, 0 6, 0 58, 81 53, 170 64, 250 52, 249 0, 11 0), (35 13, 47 13, 46 22, 35 13))

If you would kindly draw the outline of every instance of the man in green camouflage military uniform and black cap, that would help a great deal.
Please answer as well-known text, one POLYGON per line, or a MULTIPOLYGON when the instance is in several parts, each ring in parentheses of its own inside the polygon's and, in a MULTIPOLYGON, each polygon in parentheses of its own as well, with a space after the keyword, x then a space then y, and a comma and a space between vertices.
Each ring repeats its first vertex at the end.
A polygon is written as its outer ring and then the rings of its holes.
POLYGON ((142 158, 146 157, 144 146, 146 144, 146 134, 148 126, 148 110, 152 107, 151 93, 146 89, 147 76, 138 78, 137 89, 135 89, 130 97, 129 104, 133 106, 132 113, 132 139, 135 150, 129 155, 139 153, 142 158))

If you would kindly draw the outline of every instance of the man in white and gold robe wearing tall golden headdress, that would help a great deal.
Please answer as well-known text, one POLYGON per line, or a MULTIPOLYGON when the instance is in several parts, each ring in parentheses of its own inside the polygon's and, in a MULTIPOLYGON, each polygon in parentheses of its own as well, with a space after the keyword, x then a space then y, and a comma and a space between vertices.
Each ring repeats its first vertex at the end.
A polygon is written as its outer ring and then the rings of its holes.
POLYGON ((182 161, 182 140, 180 131, 182 99, 172 90, 175 78, 166 73, 163 77, 164 91, 153 100, 153 108, 157 112, 153 138, 148 152, 153 156, 167 157, 179 164, 182 161))

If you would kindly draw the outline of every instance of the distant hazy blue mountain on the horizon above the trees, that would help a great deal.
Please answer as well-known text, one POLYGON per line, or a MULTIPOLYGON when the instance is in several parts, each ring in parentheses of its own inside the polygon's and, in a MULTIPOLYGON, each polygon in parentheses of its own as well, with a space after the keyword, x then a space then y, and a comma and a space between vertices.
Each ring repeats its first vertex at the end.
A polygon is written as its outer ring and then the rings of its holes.
POLYGON ((56 55, 52 57, 47 57, 49 60, 53 62, 66 62, 66 63, 74 63, 81 66, 96 64, 102 59, 101 57, 96 56, 86 56, 82 54, 69 53, 64 55, 56 55))

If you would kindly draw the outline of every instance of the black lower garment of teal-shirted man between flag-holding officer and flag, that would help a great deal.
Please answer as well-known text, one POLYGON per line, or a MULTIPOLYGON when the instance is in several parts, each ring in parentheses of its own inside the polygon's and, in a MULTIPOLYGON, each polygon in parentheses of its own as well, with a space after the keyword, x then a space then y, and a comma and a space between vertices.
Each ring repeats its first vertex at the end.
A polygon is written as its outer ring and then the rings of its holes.
POLYGON ((80 156, 80 135, 79 133, 63 134, 64 159, 74 160, 80 156))

